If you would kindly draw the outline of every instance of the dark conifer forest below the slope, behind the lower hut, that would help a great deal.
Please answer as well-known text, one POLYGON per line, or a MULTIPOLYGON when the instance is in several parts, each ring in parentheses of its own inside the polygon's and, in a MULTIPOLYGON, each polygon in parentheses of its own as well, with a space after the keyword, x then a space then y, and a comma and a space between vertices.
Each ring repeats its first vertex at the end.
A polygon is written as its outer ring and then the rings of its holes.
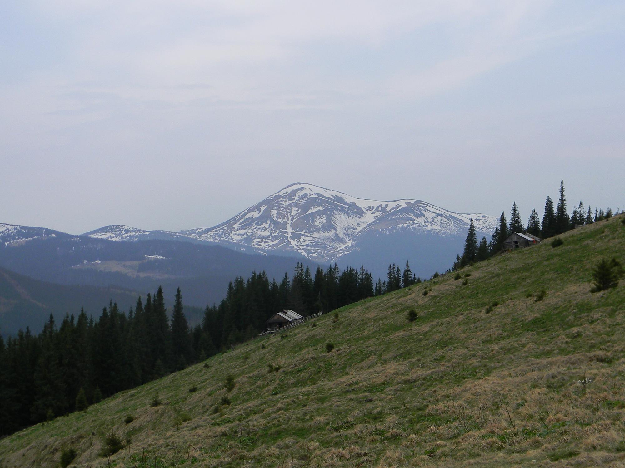
POLYGON ((297 263, 279 283, 264 271, 237 277, 195 328, 187 324, 180 288, 171 311, 159 287, 128 311, 111 302, 97 318, 82 310, 61 321, 51 315, 38 335, 27 328, 6 342, 0 336, 0 435, 81 411, 225 351, 257 336, 276 311, 327 312, 419 281, 407 263, 403 272, 389 265, 389 278, 376 285, 364 266, 317 267, 313 276, 297 263))

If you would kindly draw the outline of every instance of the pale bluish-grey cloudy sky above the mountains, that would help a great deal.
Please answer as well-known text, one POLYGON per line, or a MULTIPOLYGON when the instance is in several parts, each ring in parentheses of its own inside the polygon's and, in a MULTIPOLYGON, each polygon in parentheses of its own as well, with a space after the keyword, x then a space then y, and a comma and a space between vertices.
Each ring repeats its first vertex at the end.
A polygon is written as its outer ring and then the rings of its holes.
POLYGON ((293 182, 625 208, 625 2, 0 3, 0 222, 211 227, 293 182))

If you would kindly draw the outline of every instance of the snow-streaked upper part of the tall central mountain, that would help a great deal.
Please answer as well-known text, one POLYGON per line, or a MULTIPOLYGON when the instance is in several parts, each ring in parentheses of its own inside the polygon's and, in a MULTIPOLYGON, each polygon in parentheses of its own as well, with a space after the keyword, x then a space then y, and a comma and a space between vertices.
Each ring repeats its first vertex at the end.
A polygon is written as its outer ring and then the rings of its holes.
POLYGON ((421 200, 366 200, 294 183, 220 225, 179 234, 327 262, 358 250, 359 240, 373 234, 410 231, 443 238, 466 236, 471 217, 476 230, 485 235, 496 226, 495 217, 454 213, 421 200))

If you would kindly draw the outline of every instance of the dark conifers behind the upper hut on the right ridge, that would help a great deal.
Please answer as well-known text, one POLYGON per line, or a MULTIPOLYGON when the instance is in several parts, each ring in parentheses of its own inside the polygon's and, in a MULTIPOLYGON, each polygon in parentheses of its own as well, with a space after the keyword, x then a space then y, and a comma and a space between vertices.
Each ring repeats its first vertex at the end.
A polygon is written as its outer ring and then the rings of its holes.
POLYGON ((499 253, 504 248, 506 238, 514 232, 530 233, 539 238, 548 238, 567 232, 579 225, 592 224, 611 218, 612 215, 611 208, 607 208, 606 212, 595 208, 593 215, 591 206, 589 205, 588 208, 585 208, 581 200, 579 205, 574 207, 571 215, 569 215, 566 208, 564 180, 560 180, 557 205, 554 206, 552 198, 547 196, 542 222, 534 209, 529 215, 527 224, 523 225, 519 208, 517 208, 516 202, 514 202, 510 212, 510 222, 506 220, 506 213, 501 212, 499 224, 495 227, 491 240, 487 241, 486 236, 482 236, 478 242, 476 228, 473 225, 473 218, 471 218, 462 256, 459 254, 456 256, 456 261, 454 261, 451 270, 457 270, 476 261, 486 260, 489 256, 499 253))

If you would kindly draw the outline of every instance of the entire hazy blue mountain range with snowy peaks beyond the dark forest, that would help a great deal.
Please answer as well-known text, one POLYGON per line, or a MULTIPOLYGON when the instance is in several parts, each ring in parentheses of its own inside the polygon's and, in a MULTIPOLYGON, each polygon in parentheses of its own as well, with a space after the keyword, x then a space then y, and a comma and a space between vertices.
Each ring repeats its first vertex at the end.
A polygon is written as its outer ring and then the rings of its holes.
POLYGON ((455 213, 412 198, 368 200, 295 183, 211 228, 170 232, 110 225, 77 236, 0 224, 0 266, 64 284, 139 291, 184 286, 187 303, 204 306, 221 299, 237 275, 265 269, 281 277, 296 261, 312 268, 364 265, 374 278, 385 278, 389 264, 403 267, 408 260, 417 276, 427 277, 445 271, 462 252, 471 218, 478 238, 489 238, 497 219, 482 213, 455 213))

